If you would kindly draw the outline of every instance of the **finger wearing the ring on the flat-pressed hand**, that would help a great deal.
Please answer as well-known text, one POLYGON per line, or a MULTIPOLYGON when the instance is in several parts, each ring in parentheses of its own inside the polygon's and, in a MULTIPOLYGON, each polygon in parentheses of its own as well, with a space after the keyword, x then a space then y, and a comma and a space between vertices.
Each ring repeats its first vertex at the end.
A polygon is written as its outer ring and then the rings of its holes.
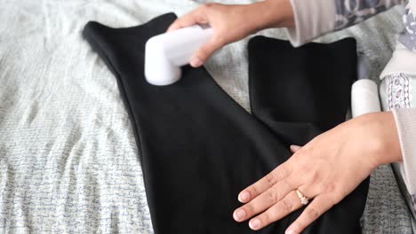
POLYGON ((254 217, 249 222, 249 226, 252 230, 260 230, 268 226, 268 224, 282 219, 287 214, 291 214, 302 206, 296 191, 291 191, 284 199, 277 202, 275 206, 270 207, 267 211, 254 217))

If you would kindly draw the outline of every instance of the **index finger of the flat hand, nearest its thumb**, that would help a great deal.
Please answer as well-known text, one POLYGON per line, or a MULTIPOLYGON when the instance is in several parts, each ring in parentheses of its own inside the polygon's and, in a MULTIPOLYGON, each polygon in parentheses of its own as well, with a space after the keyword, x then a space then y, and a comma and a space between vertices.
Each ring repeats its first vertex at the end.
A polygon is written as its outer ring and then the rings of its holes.
POLYGON ((292 162, 287 160, 282 165, 274 169, 268 175, 261 178, 258 182, 253 183, 247 187, 244 191, 238 194, 238 200, 243 203, 247 203, 250 200, 256 198, 264 191, 267 191, 270 187, 284 180, 292 173, 292 162))

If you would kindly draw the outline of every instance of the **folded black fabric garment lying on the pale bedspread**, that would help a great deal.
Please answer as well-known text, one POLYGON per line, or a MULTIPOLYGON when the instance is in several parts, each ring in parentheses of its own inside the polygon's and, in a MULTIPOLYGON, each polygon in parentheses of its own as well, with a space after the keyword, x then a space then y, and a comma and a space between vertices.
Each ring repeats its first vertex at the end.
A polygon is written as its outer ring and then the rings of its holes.
MULTIPOLYGON (((170 86, 144 77, 145 43, 164 33, 172 13, 129 28, 84 28, 115 74, 132 120, 156 233, 254 233, 232 218, 237 195, 291 156, 288 144, 344 121, 356 78, 356 43, 299 49, 255 37, 249 44, 252 114, 204 68, 184 67, 170 86)), ((368 180, 304 233, 359 233, 368 180)), ((302 209, 256 233, 284 233, 302 209)))

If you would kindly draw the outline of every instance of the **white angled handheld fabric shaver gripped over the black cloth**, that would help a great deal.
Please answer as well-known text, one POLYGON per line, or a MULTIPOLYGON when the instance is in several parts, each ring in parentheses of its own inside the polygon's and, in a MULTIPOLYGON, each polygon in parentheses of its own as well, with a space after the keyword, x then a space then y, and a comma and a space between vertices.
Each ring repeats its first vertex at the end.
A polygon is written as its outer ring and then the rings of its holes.
POLYGON ((154 85, 177 82, 181 76, 180 66, 187 65, 212 34, 212 27, 196 25, 150 38, 145 52, 146 80, 154 85))

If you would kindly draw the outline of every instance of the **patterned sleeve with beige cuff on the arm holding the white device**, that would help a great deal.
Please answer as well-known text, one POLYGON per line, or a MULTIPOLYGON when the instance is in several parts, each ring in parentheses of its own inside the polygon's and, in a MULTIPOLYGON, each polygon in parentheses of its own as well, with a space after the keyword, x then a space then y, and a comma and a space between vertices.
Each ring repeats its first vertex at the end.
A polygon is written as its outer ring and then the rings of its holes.
MULTIPOLYGON (((411 0, 412 1, 412 0, 411 0)), ((295 27, 287 28, 294 46, 355 25, 405 0, 291 0, 295 27)))

